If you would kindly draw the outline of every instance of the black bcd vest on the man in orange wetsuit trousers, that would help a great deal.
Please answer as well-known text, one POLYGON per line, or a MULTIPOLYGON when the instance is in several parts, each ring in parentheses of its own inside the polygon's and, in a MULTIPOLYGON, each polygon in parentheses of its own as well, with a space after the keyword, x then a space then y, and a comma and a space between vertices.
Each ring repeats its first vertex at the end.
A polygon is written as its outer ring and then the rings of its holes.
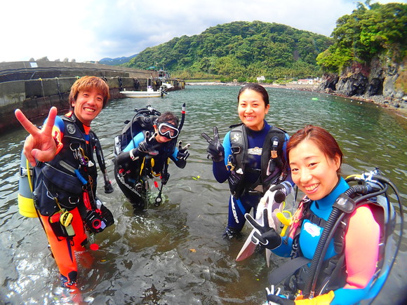
POLYGON ((90 131, 89 143, 86 143, 85 135, 76 125, 74 118, 67 116, 61 118, 65 124, 62 149, 53 160, 37 162, 35 166, 34 202, 44 216, 53 215, 60 210, 60 207, 72 210, 79 203, 83 203, 84 181, 88 182, 93 194, 96 190, 98 173, 93 158, 93 148, 95 145, 100 146, 98 138, 90 131), (81 165, 79 160, 81 156, 76 154, 78 149, 84 152, 88 166, 81 165), (84 178, 84 181, 81 182, 75 170, 84 178))

